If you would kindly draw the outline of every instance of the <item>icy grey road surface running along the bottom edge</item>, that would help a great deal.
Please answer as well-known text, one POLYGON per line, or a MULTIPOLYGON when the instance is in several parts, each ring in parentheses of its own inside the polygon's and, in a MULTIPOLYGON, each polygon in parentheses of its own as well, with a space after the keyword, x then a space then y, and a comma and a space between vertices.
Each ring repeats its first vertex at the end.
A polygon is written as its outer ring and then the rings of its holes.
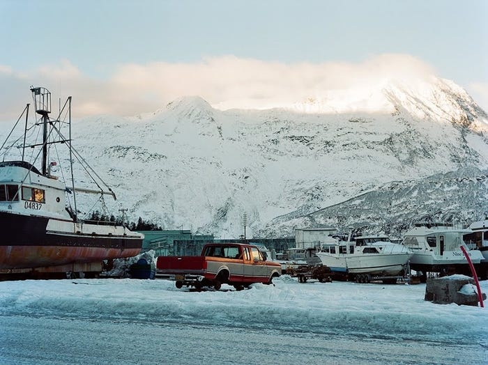
POLYGON ((477 346, 452 343, 15 316, 0 326, 1 364, 481 364, 477 346))

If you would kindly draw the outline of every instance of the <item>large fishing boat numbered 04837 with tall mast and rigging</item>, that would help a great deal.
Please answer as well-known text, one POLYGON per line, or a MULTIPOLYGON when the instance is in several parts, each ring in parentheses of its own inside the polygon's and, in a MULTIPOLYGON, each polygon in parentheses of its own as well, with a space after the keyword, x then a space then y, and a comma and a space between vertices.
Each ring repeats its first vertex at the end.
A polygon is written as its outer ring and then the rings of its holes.
POLYGON ((78 194, 98 194, 102 203, 103 196, 116 199, 116 195, 73 148, 71 97, 62 109, 60 105, 59 117, 54 120, 49 118, 51 93, 40 87, 31 87, 31 92, 38 118, 29 125, 27 104, 0 149, 3 153, 0 162, 1 272, 95 272, 101 270, 104 260, 139 254, 144 238, 141 233, 129 231, 125 224, 90 222, 79 217, 78 194), (24 115, 24 132, 15 139, 16 127, 24 115), (61 115, 65 120, 61 120, 61 115), (68 137, 63 132, 66 129, 68 137), (31 136, 39 137, 32 140, 31 136), (15 141, 10 143, 10 139, 15 141), (64 156, 59 155, 61 146, 67 150, 64 156), (20 159, 12 159, 14 154, 20 155, 20 159), (57 161, 48 162, 54 158, 57 161), (75 186, 75 159, 94 178, 94 188, 75 186), (64 162, 69 166, 67 173, 60 166, 64 162), (55 168, 58 175, 53 172, 55 168), (67 183, 69 179, 70 184, 67 183))

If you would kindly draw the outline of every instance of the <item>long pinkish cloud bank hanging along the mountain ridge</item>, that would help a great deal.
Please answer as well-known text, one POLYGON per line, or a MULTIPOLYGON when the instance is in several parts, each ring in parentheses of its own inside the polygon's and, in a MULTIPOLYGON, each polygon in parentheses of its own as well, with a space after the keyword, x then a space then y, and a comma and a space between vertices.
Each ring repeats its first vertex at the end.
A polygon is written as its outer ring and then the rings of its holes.
POLYGON ((107 79, 88 77, 68 60, 30 72, 0 65, 2 85, 13 90, 0 120, 21 111, 31 84, 48 88, 53 100, 60 97, 59 91, 72 95, 77 116, 132 116, 188 95, 199 95, 219 109, 266 109, 323 98, 330 91, 380 87, 390 79, 434 74, 427 63, 406 54, 383 54, 361 63, 280 63, 236 56, 197 63, 132 63, 118 65, 107 79))

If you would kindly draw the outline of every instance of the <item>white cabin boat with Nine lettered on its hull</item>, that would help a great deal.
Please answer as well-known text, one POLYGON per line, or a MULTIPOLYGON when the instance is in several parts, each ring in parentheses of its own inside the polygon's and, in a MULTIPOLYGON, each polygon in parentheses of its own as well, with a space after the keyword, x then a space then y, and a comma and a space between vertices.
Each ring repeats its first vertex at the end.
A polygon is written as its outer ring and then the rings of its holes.
POLYGON ((473 264, 483 256, 464 236, 472 231, 450 223, 418 223, 404 235, 402 244, 413 251, 412 270, 440 274, 471 274, 468 261, 460 247, 464 247, 473 264))

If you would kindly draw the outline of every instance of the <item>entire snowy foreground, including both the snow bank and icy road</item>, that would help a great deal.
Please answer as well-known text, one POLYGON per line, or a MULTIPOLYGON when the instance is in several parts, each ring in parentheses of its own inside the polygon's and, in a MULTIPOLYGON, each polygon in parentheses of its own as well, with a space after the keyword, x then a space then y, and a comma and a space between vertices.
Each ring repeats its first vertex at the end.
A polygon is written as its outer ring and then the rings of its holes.
POLYGON ((0 364, 488 364, 488 310, 424 295, 425 284, 288 276, 218 292, 160 279, 3 281, 0 364))

